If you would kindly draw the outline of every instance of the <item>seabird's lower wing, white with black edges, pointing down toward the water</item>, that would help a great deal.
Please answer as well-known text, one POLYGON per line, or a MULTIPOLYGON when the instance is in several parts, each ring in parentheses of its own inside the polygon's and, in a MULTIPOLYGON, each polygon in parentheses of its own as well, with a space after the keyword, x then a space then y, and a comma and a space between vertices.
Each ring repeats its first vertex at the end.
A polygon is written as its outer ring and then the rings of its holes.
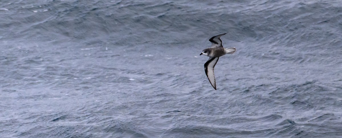
POLYGON ((219 61, 219 57, 209 57, 208 61, 204 64, 204 71, 206 72, 206 75, 208 77, 208 80, 211 86, 213 86, 215 90, 216 90, 216 82, 215 82, 215 75, 214 75, 214 67, 217 61, 219 61))

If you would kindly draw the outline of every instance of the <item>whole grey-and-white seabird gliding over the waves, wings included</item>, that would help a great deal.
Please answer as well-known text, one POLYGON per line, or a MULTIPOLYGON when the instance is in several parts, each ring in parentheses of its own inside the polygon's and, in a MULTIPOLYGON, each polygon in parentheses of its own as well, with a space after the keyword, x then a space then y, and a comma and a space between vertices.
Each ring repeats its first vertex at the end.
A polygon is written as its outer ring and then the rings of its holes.
POLYGON ((204 49, 202 53, 199 54, 199 55, 205 55, 209 57, 208 61, 204 64, 204 70, 206 72, 206 75, 209 79, 211 86, 213 86, 215 90, 216 90, 216 82, 215 82, 215 75, 214 75, 214 67, 217 61, 219 60, 219 57, 225 54, 233 54, 236 51, 235 47, 227 49, 222 46, 222 41, 220 37, 223 36, 224 34, 226 33, 210 38, 209 41, 212 43, 211 47, 208 49, 204 49))

